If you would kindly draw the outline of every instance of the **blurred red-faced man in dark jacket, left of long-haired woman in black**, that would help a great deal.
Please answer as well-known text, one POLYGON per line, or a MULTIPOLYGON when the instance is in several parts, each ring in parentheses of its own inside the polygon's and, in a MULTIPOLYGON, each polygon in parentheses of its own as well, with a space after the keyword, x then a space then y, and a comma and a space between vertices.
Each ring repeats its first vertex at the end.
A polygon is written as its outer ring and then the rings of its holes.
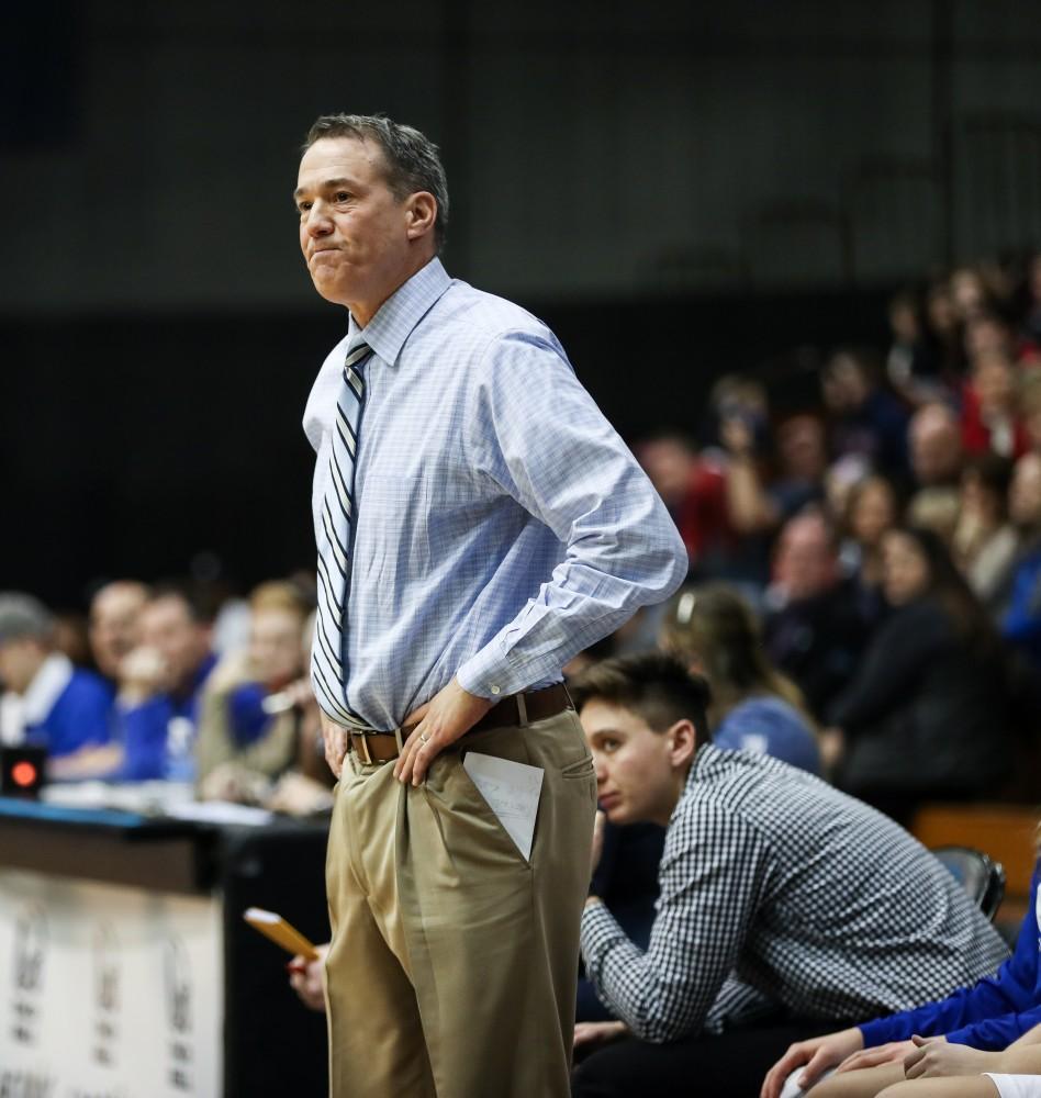
POLYGON ((819 719, 852 676, 871 627, 842 575, 835 530, 819 512, 784 525, 766 597, 770 661, 795 682, 819 719))

